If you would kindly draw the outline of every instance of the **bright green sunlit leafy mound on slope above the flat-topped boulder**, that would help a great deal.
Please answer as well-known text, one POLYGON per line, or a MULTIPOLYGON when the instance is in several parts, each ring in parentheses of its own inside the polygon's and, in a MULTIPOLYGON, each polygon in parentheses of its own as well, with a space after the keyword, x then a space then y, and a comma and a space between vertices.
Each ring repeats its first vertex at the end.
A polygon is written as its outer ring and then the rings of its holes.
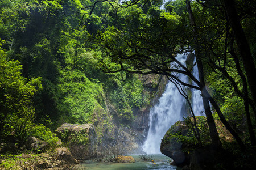
POLYGON ((61 90, 64 92, 64 103, 75 121, 82 124, 92 121, 93 111, 97 104, 97 96, 102 92, 98 83, 91 82, 79 70, 61 71, 61 90))

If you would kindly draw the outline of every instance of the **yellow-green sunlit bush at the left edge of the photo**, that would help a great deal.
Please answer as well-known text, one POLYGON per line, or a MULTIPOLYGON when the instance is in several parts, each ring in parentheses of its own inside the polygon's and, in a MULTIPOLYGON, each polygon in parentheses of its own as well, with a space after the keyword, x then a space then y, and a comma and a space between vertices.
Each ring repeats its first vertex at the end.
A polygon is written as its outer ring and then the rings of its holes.
POLYGON ((6 61, 3 50, 0 57, 0 135, 14 133, 22 143, 34 124, 32 97, 42 88, 42 79, 27 82, 21 76, 22 66, 18 61, 6 61))

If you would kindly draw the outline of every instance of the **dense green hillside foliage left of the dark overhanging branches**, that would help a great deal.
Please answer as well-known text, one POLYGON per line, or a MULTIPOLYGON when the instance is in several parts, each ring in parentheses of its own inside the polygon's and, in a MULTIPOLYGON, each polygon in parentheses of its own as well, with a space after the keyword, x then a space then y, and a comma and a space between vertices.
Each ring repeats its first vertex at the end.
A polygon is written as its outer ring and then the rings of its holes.
POLYGON ((94 112, 108 112, 109 104, 116 121, 130 125, 133 109, 148 104, 138 75, 98 67, 101 52, 88 38, 115 23, 114 11, 104 2, 90 16, 80 14, 91 3, 1 2, 1 137, 15 133, 23 142, 35 124, 55 130, 64 122, 95 122, 94 112))

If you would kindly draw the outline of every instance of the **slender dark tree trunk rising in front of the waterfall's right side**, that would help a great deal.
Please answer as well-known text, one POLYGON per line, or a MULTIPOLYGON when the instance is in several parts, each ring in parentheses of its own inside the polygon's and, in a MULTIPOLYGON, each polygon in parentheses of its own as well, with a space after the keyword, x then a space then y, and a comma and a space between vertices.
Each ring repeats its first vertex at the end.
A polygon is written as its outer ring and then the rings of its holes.
POLYGON ((204 109, 205 109, 205 116, 207 117, 207 123, 209 126, 209 131, 210 131, 210 138, 212 139, 212 145, 220 148, 221 147, 221 141, 220 141, 220 137, 218 136, 218 132, 216 129, 216 125, 212 116, 212 112, 210 111, 210 104, 208 99, 203 95, 203 90, 205 89, 205 82, 204 82, 204 70, 203 70, 203 63, 201 61, 201 54, 200 54, 200 50, 199 50, 199 43, 197 42, 197 29, 196 29, 196 23, 195 23, 195 19, 193 17, 193 12, 191 10, 191 6, 190 6, 190 2, 187 0, 186 1, 186 5, 187 5, 187 10, 188 10, 188 15, 189 15, 189 19, 191 22, 191 25, 193 27, 193 34, 195 37, 195 41, 196 41, 196 46, 195 46, 195 54, 196 54, 196 61, 197 61, 197 67, 198 67, 198 72, 199 72, 199 80, 201 85, 203 86, 203 88, 201 88, 201 92, 202 92, 202 97, 203 97, 203 104, 204 104, 204 109))

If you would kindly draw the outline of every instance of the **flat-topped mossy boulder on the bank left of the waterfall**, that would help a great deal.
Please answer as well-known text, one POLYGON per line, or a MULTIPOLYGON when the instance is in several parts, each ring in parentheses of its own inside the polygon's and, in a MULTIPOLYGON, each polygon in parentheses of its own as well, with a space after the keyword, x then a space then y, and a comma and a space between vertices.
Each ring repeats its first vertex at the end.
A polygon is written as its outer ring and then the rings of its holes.
POLYGON ((77 159, 89 159, 96 154, 97 136, 93 124, 63 124, 57 128, 56 134, 69 145, 77 159))

